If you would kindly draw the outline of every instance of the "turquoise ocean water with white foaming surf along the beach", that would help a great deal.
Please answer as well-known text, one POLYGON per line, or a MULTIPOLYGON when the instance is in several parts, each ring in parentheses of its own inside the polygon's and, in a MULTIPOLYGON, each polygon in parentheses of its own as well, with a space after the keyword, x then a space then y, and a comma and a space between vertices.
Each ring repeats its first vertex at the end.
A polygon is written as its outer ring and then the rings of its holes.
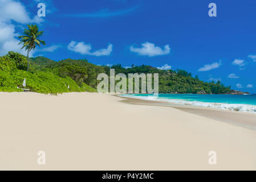
POLYGON ((256 94, 123 94, 121 96, 152 101, 167 101, 177 105, 213 107, 216 109, 256 113, 256 94))

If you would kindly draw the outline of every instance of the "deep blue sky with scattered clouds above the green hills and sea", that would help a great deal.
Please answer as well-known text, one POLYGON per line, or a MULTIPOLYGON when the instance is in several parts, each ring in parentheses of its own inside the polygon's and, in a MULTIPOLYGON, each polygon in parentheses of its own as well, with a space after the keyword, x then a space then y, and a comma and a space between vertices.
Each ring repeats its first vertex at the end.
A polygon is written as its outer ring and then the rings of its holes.
POLYGON ((9 30, 12 40, 0 35, 1 55, 7 48, 18 50, 17 35, 26 23, 36 23, 47 46, 32 56, 185 69, 204 81, 221 80, 233 89, 256 93, 255 0, 1 1, 0 10, 19 3, 13 12, 0 13, 0 33, 1 28, 9 30), (36 17, 40 2, 46 4, 46 17, 36 17), (212 2, 217 17, 208 15, 212 2))

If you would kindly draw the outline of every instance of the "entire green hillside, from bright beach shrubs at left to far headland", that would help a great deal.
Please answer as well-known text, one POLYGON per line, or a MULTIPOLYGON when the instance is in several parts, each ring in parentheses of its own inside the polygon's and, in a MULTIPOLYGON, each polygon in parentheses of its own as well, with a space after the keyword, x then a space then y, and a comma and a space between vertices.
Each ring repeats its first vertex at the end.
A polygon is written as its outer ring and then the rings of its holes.
MULTIPOLYGON (((46 57, 30 59, 31 67, 26 71, 26 57, 9 52, 0 57, 0 92, 21 92, 23 79, 32 92, 64 93, 64 92, 96 92, 97 75, 107 73, 110 67, 95 65, 87 60, 65 59, 53 61, 46 57)), ((132 65, 123 68, 113 65, 115 73, 159 73, 159 93, 206 93, 222 94, 230 92, 230 86, 218 82, 204 82, 198 76, 193 77, 182 69, 160 70, 149 65, 132 65)))

